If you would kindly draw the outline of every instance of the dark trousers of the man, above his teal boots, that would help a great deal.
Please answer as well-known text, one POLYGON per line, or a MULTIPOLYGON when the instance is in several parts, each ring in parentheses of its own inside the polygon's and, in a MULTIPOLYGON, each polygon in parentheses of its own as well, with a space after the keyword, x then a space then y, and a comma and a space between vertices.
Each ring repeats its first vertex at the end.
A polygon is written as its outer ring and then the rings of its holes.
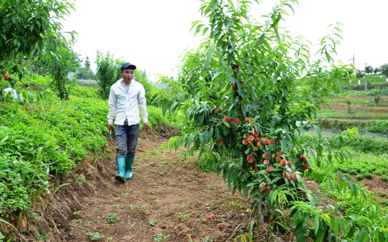
POLYGON ((137 145, 137 137, 139 136, 140 123, 128 125, 128 121, 124 125, 116 124, 116 158, 135 157, 135 150, 137 145), (127 149, 127 154, 125 153, 127 149))

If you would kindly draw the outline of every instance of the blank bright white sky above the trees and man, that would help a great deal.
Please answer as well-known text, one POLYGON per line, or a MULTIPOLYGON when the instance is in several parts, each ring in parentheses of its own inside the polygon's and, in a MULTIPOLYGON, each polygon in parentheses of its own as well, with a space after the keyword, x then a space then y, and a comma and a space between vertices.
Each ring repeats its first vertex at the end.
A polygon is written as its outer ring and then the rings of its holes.
MULTIPOLYGON (((276 2, 254 3, 251 15, 260 19, 276 2)), ((190 33, 191 23, 202 19, 200 6, 199 0, 76 0, 62 30, 78 33, 74 51, 83 60, 88 56, 93 70, 97 50, 110 51, 155 82, 157 75, 176 77, 185 49, 196 49, 203 39, 190 33)), ((357 68, 364 69, 366 63, 388 63, 387 10, 388 0, 299 0, 295 14, 290 11, 281 25, 317 44, 328 25, 342 23, 343 41, 334 59, 350 63, 354 54, 357 68)))

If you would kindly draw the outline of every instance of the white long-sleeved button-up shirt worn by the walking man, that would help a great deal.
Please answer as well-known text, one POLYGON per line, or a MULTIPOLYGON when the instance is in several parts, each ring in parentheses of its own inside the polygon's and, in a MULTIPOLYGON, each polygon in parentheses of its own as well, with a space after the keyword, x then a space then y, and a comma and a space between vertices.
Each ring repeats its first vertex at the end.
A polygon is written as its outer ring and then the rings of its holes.
POLYGON ((116 81, 111 86, 111 92, 109 93, 108 105, 109 113, 107 116, 108 124, 124 125, 124 121, 128 120, 128 125, 140 123, 140 111, 142 112, 143 122, 148 122, 148 112, 146 106, 146 91, 140 82, 132 81, 129 84, 128 93, 121 86, 121 81, 116 81))

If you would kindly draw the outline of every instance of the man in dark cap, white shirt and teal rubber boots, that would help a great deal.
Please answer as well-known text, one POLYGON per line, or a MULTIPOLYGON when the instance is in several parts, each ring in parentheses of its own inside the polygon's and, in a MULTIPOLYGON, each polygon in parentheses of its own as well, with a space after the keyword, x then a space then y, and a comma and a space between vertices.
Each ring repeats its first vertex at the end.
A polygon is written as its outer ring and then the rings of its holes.
POLYGON ((136 66, 125 62, 121 65, 120 74, 123 78, 111 86, 109 93, 108 128, 113 129, 113 119, 116 125, 116 166, 117 181, 125 182, 132 178, 132 164, 135 158, 137 138, 139 135, 140 115, 142 112, 144 128, 149 130, 147 121, 146 91, 140 82, 135 81, 136 66), (125 153, 127 148, 127 153, 125 153))

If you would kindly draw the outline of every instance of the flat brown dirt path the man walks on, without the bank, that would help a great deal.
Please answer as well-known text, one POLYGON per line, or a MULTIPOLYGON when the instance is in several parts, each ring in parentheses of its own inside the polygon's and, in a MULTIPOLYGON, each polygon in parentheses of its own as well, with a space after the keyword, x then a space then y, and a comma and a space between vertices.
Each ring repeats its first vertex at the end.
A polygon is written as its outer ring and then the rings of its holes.
MULTIPOLYGON (((93 166, 86 162, 78 169, 80 174, 74 175, 79 186, 88 187, 85 190, 90 189, 92 194, 74 197, 69 194, 72 191, 63 192, 64 200, 58 208, 68 210, 74 200, 80 205, 79 212, 68 218, 68 225, 62 226, 63 240, 91 241, 87 233, 98 232, 104 236, 99 241, 109 241, 111 237, 113 242, 151 242, 159 234, 157 241, 169 235, 164 241, 225 242, 243 234, 248 222, 254 220, 246 212, 245 197, 238 193, 232 196, 222 177, 198 169, 194 158, 186 159, 163 148, 168 139, 143 136, 136 151, 133 179, 118 183, 113 179, 113 142, 111 159, 93 166), (118 222, 109 223, 107 217, 114 220, 114 214, 118 222), (214 214, 215 219, 203 222, 205 214, 214 214), (222 229, 217 228, 218 223, 222 223, 222 229)), ((256 235, 255 241, 268 241, 270 236, 256 235)), ((278 241, 291 240, 283 239, 278 241)))

